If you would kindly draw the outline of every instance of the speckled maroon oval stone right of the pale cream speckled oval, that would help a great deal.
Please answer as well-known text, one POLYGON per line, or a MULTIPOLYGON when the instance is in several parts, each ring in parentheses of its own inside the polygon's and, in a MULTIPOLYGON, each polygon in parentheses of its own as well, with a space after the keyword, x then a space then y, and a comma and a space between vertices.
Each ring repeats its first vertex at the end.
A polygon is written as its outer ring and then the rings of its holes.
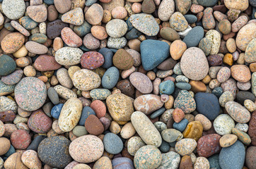
POLYGON ((88 51, 81 57, 81 65, 83 68, 93 70, 100 67, 104 63, 104 57, 97 51, 88 51))

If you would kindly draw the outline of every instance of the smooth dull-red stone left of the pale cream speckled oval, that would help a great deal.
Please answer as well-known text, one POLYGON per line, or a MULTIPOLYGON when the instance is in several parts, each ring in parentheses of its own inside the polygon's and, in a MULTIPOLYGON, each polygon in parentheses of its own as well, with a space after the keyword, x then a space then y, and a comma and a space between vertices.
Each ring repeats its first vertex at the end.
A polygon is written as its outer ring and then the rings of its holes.
POLYGON ((57 61, 55 61, 54 56, 50 55, 40 55, 37 59, 35 59, 34 67, 38 71, 51 71, 58 70, 62 67, 57 61))

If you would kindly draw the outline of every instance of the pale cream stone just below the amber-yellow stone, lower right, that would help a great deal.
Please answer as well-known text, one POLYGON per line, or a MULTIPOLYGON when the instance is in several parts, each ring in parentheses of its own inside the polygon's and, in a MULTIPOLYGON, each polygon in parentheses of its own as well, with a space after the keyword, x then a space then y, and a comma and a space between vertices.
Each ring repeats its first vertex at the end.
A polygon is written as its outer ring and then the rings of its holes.
POLYGON ((175 144, 175 151, 180 156, 190 155, 197 148, 197 142, 194 139, 181 139, 175 144))

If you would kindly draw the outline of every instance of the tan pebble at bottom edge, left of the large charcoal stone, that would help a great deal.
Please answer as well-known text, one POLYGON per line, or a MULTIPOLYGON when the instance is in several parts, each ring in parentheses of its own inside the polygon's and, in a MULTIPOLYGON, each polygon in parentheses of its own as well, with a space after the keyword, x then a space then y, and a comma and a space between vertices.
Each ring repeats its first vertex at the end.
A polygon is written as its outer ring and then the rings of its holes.
POLYGON ((40 169, 42 168, 42 163, 37 156, 37 152, 34 150, 25 151, 21 156, 21 161, 28 168, 40 169))

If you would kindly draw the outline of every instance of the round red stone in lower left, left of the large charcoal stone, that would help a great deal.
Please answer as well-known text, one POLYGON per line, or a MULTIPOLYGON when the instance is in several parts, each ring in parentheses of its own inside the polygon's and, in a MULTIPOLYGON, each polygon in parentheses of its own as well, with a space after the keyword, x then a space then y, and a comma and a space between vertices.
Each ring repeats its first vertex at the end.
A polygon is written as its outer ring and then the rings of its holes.
POLYGON ((15 149, 27 149, 30 142, 30 134, 25 130, 16 130, 11 134, 11 144, 15 149))

